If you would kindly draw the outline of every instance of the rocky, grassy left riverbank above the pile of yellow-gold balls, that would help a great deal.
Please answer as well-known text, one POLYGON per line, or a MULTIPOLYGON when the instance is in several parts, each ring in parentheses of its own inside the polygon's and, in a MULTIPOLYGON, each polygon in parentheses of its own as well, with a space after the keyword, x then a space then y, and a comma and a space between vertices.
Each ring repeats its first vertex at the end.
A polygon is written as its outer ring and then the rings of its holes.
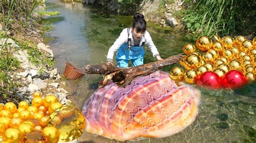
POLYGON ((0 103, 30 103, 36 91, 43 96, 53 94, 62 104, 71 103, 66 99, 65 77, 54 67, 50 46, 43 43, 46 30, 41 19, 35 12, 29 19, 19 15, 0 24, 0 103))

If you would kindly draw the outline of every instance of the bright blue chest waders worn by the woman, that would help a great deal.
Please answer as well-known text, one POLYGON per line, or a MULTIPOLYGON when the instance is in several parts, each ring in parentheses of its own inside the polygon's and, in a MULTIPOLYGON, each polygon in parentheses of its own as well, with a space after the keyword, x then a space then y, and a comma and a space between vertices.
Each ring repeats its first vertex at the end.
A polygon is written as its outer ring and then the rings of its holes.
MULTIPOLYGON (((130 28, 127 29, 129 37, 130 28)), ((132 61, 132 66, 143 65, 145 51, 142 46, 131 46, 131 39, 128 38, 127 43, 122 44, 117 51, 116 61, 117 66, 125 68, 129 66, 129 60, 132 61)))

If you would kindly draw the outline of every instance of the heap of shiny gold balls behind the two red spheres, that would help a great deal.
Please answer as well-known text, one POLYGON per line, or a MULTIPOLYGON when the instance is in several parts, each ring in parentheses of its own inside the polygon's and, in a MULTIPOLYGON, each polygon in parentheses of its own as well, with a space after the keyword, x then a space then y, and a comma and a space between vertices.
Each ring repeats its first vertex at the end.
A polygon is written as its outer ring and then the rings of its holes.
POLYGON ((194 78, 205 71, 214 71, 222 77, 235 69, 241 71, 251 82, 255 81, 256 38, 248 40, 239 35, 235 39, 230 36, 221 39, 214 35, 211 39, 201 36, 197 39, 196 46, 186 44, 183 51, 186 56, 180 60, 180 65, 186 71, 181 67, 173 67, 170 71, 172 80, 184 80, 193 84, 194 78))

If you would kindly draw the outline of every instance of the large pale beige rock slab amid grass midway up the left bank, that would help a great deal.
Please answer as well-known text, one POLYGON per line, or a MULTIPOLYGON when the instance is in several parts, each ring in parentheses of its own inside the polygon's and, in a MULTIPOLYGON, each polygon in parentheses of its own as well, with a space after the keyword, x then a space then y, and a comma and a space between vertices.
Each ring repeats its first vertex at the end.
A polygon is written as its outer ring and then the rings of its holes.
POLYGON ((33 63, 31 63, 27 57, 29 57, 28 55, 28 51, 24 50, 18 50, 16 52, 13 53, 14 57, 18 59, 18 61, 21 62, 21 67, 23 69, 37 69, 39 70, 41 67, 36 67, 35 65, 33 65, 33 63))

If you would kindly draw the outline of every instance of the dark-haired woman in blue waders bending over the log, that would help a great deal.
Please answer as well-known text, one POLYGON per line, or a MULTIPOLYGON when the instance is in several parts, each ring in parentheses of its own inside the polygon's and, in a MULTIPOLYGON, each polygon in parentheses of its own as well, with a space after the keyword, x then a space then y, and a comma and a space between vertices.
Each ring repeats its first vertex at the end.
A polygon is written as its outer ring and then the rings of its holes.
POLYGON ((110 47, 107 53, 107 62, 113 61, 114 52, 117 51, 116 61, 117 66, 125 68, 129 66, 129 60, 132 61, 132 66, 143 65, 145 51, 144 44, 148 47, 154 58, 162 60, 156 46, 146 31, 146 21, 140 13, 135 13, 133 16, 133 24, 131 28, 125 28, 118 39, 110 47))

